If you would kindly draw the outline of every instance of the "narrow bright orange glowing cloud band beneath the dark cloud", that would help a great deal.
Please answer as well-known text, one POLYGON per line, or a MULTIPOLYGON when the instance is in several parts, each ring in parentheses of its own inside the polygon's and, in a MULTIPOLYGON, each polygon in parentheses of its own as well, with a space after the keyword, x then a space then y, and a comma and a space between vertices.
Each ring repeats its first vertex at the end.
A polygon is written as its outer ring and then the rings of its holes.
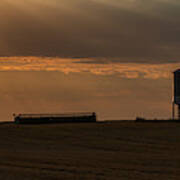
POLYGON ((98 58, 47 58, 47 57, 1 57, 0 71, 57 71, 64 74, 90 73, 94 75, 116 75, 128 79, 169 79, 180 63, 143 64, 117 63, 98 58), (94 63, 93 63, 94 62, 94 63), (99 62, 99 63, 97 63, 99 62), (100 63, 102 62, 102 63, 100 63))

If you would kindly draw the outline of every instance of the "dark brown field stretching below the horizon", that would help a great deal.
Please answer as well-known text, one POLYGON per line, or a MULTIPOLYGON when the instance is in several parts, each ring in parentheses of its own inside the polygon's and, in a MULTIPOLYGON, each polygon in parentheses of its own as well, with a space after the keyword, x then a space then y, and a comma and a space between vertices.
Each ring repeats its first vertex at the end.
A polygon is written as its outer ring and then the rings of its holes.
POLYGON ((2 124, 0 179, 180 179, 180 123, 2 124))

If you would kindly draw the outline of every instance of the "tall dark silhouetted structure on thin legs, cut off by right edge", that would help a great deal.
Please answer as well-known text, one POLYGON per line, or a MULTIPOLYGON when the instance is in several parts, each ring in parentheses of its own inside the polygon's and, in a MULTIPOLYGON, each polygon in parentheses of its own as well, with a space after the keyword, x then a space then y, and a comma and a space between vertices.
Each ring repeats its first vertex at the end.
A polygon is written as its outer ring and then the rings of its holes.
POLYGON ((178 106, 178 118, 180 120, 180 69, 174 71, 173 119, 175 117, 175 105, 178 106))

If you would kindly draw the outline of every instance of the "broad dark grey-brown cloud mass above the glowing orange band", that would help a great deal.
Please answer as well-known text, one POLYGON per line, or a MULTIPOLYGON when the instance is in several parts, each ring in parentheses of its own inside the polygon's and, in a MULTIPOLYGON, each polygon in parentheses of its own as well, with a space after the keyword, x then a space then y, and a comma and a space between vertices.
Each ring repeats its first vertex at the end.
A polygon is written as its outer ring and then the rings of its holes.
POLYGON ((0 56, 178 62, 178 17, 176 0, 3 0, 0 56))

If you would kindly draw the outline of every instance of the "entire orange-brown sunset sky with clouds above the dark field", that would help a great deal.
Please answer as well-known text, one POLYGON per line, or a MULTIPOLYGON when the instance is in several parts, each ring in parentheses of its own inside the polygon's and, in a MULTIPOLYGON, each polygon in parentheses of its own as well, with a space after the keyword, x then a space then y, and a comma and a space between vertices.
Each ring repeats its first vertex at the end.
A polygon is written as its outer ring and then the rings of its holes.
POLYGON ((170 118, 178 0, 1 0, 0 119, 170 118))

